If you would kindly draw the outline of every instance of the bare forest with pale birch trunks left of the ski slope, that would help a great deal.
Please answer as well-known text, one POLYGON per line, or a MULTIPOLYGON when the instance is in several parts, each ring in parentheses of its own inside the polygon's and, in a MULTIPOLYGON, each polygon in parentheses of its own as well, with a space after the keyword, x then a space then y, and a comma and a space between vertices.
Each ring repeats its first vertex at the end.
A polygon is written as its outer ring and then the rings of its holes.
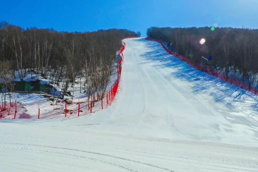
MULTIPOLYGON (((54 29, 22 29, 0 23, 0 78, 2 88, 12 92, 15 72, 22 81, 30 75, 49 79, 61 88, 61 99, 76 78, 86 87, 88 97, 99 101, 115 70, 122 38, 139 37, 126 29, 94 32, 59 32, 54 29), (96 97, 95 97, 96 94, 96 97)), ((2 89, 3 92, 3 89, 2 89)), ((6 93, 5 93, 6 94, 6 93)), ((3 94, 2 94, 3 95, 3 94)))

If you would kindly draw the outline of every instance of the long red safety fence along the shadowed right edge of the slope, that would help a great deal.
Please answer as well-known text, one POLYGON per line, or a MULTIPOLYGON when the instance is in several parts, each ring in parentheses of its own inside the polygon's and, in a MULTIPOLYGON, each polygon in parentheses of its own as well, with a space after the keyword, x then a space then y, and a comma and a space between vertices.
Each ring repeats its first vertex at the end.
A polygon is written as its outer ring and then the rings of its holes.
POLYGON ((257 90, 255 88, 250 87, 250 86, 248 86, 245 83, 242 83, 240 80, 236 80, 235 78, 228 77, 224 73, 220 73, 220 72, 218 72, 218 71, 216 71, 214 69, 211 69, 207 65, 202 65, 202 64, 198 64, 198 63, 192 62, 191 60, 187 59, 186 57, 184 57, 182 55, 179 55, 178 53, 175 53, 173 51, 168 50, 163 45, 163 43, 161 41, 159 41, 159 40, 151 39, 151 38, 148 38, 148 37, 146 37, 145 39, 146 40, 150 40, 150 41, 158 42, 166 50, 166 52, 168 52, 170 55, 174 56, 175 58, 183 61, 184 63, 188 64, 192 68, 195 68, 195 69, 197 69, 199 71, 202 71, 202 72, 206 72, 209 75, 212 75, 212 76, 216 77, 217 79, 220 79, 224 83, 228 83, 228 84, 234 85, 234 86, 236 86, 238 88, 245 89, 245 90, 247 90, 247 91, 249 91, 251 93, 254 93, 255 95, 257 94, 257 90))

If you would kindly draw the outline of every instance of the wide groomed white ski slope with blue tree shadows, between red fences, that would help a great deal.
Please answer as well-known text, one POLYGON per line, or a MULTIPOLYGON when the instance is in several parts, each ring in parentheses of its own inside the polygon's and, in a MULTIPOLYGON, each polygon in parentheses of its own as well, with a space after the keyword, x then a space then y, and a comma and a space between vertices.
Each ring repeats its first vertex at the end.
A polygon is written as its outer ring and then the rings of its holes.
POLYGON ((74 118, 0 120, 0 171, 258 171, 258 99, 125 39, 112 104, 74 118))

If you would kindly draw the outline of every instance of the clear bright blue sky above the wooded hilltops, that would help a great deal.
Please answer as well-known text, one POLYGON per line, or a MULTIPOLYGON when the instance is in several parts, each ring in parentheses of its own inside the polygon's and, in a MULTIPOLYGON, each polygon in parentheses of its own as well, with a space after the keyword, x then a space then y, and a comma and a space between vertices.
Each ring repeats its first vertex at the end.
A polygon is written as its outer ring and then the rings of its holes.
POLYGON ((258 28, 258 0, 62 0, 1 1, 0 21, 22 28, 94 31, 125 28, 140 31, 158 27, 258 28))

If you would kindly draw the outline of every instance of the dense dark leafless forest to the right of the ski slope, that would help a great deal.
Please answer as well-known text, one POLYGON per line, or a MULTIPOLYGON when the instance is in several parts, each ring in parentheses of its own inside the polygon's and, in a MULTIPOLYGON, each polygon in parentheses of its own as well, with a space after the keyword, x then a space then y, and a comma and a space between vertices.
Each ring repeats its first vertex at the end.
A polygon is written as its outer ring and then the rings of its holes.
POLYGON ((258 29, 151 27, 147 36, 166 42, 169 48, 197 63, 201 56, 211 55, 214 69, 223 70, 227 76, 230 72, 232 77, 248 81, 249 86, 257 82, 258 29), (203 38, 206 41, 200 44, 203 38))

